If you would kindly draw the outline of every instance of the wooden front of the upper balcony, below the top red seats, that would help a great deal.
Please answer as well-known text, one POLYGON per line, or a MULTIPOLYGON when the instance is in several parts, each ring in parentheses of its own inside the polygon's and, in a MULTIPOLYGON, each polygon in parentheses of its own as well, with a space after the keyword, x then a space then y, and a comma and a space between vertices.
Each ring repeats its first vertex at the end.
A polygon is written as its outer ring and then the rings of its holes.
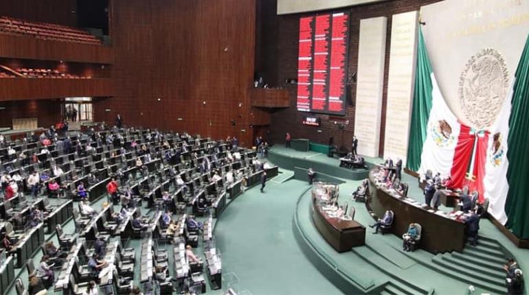
POLYGON ((99 64, 112 64, 114 61, 111 47, 7 34, 0 34, 0 57, 99 64))

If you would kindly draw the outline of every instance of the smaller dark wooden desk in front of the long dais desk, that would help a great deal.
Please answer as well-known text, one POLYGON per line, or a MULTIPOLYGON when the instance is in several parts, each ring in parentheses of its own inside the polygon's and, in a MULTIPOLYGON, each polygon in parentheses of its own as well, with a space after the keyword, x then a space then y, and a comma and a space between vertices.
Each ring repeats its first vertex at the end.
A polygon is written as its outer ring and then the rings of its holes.
POLYGON ((322 209, 319 198, 313 193, 312 218, 322 237, 338 252, 365 245, 365 226, 354 220, 329 217, 322 209))

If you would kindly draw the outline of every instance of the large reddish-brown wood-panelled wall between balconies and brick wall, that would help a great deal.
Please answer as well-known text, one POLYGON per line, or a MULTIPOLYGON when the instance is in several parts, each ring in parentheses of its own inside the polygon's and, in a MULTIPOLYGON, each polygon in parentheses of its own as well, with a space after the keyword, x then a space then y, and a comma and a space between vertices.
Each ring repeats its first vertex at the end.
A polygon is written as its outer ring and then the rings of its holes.
POLYGON ((111 19, 116 95, 96 120, 251 144, 255 0, 115 0, 111 19))

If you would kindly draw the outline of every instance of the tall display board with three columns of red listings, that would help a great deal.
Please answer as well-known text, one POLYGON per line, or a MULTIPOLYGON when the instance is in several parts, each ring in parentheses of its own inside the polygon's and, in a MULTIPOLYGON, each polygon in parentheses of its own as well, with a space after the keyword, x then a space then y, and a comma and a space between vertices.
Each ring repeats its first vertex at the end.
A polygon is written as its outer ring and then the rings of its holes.
POLYGON ((297 110, 345 115, 349 14, 300 18, 297 110))

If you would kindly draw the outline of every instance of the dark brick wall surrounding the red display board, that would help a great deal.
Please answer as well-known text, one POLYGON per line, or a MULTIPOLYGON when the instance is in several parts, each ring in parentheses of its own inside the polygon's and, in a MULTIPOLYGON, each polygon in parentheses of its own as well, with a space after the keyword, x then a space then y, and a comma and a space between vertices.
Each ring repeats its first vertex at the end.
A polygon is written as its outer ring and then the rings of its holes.
MULTIPOLYGON (((330 137, 334 137, 335 145, 350 148, 352 134, 354 132, 354 105, 356 104, 356 84, 348 86, 348 99, 346 102, 345 116, 317 115, 322 118, 322 126, 319 128, 304 126, 302 121, 307 113, 296 110, 295 85, 284 83, 286 78, 297 78, 297 38, 300 16, 305 14, 293 14, 278 16, 275 14, 277 2, 275 0, 259 0, 258 5, 258 41, 260 46, 256 58, 256 72, 261 73, 265 82, 271 86, 280 86, 289 89, 291 94, 291 106, 280 110, 272 115, 271 139, 273 143, 282 143, 284 133, 291 132, 293 138, 308 138, 317 143, 327 144, 330 137), (266 4, 266 5, 264 5, 266 4), (337 121, 337 124, 335 124, 337 121), (344 129, 339 129, 339 123, 349 121, 344 129), (318 132, 321 130, 321 132, 318 132)), ((354 6, 337 11, 350 11, 349 30, 349 59, 348 76, 357 73, 358 65, 358 43, 360 20, 377 16, 387 17, 386 56, 383 86, 383 107, 381 121, 381 147, 383 154, 385 136, 385 112, 387 102, 387 73, 390 64, 390 41, 391 41, 391 16, 401 12, 418 10, 421 5, 438 2, 439 0, 393 0, 382 3, 354 6)), ((307 14, 310 15, 310 14, 307 14)))

